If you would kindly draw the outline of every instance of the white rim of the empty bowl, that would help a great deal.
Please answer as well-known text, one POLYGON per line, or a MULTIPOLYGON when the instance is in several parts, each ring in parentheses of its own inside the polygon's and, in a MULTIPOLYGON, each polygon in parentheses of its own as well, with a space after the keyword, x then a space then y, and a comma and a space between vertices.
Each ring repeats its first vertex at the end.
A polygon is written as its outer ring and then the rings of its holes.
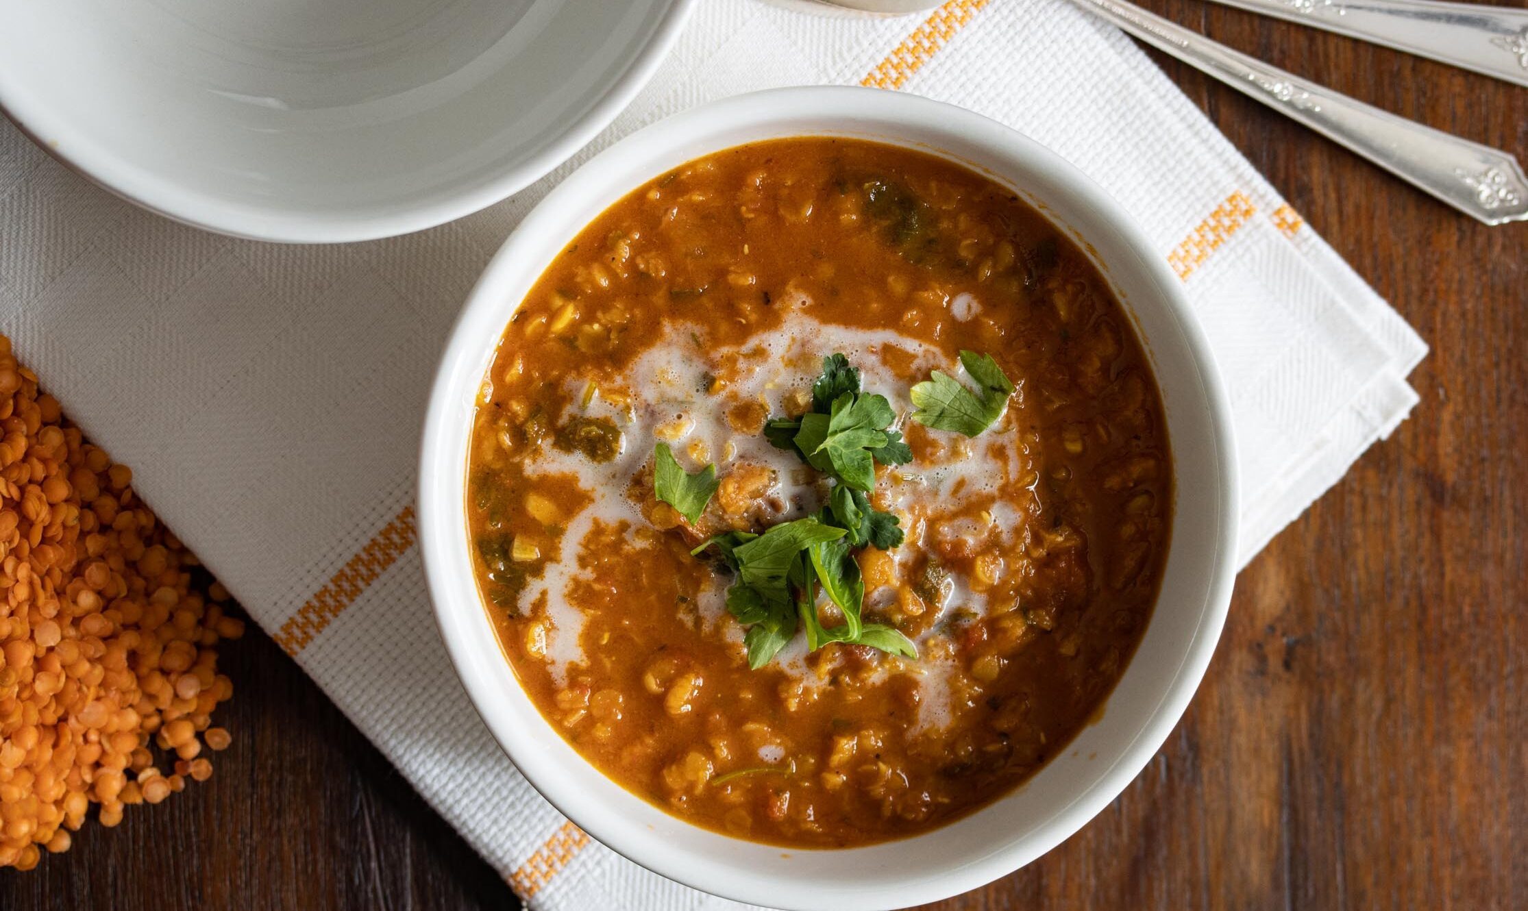
POLYGON ((637 49, 630 66, 614 73, 610 90, 581 116, 564 124, 539 150, 513 165, 494 170, 481 180, 439 194, 428 203, 384 212, 315 216, 188 191, 171 177, 118 159, 99 138, 34 98, 21 78, 6 79, 3 69, 0 115, 69 170, 121 199, 182 225, 270 243, 354 243, 399 237, 437 228, 509 199, 588 145, 652 79, 697 6, 697 0, 659 2, 666 3, 666 8, 659 14, 651 38, 637 49))

